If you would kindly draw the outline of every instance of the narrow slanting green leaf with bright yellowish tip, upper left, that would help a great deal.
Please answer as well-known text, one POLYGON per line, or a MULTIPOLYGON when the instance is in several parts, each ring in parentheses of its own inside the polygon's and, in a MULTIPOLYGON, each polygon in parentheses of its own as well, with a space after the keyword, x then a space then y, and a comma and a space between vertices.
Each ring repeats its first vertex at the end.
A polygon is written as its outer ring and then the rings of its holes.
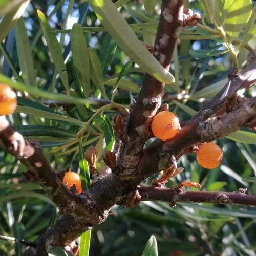
POLYGON ((60 75, 63 86, 65 87, 66 91, 69 93, 68 73, 66 71, 67 68, 64 63, 60 44, 59 44, 56 36, 54 34, 50 33, 53 31, 53 29, 49 25, 48 20, 45 17, 44 13, 37 10, 37 14, 39 17, 39 22, 40 22, 40 25, 42 28, 42 32, 44 33, 44 36, 46 38, 46 42, 47 42, 49 51, 51 53, 53 62, 55 64, 55 67, 60 75))

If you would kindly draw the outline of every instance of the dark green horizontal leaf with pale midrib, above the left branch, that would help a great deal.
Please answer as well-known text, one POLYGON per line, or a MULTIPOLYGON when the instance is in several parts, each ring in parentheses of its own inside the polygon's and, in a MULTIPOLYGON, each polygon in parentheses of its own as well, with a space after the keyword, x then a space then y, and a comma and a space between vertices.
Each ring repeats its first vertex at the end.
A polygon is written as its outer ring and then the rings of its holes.
MULTIPOLYGON (((61 117, 61 116, 60 116, 61 117)), ((60 127, 47 125, 23 125, 15 126, 15 129, 23 136, 51 136, 56 138, 76 138, 76 133, 69 132, 60 127)))

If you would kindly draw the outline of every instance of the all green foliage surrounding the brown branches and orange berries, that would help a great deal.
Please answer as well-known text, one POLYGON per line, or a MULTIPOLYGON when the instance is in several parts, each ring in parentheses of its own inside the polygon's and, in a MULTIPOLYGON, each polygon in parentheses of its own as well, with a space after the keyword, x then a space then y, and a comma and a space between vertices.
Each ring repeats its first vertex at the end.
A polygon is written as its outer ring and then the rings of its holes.
MULTIPOLYGON (((244 67, 249 54, 243 46, 255 45, 256 16, 249 0, 190 1, 190 8, 204 13, 204 19, 181 32, 169 73, 141 44, 155 39, 160 1, 32 0, 23 17, 13 20, 21 3, 27 2, 0 0, 0 81, 19 95, 16 112, 7 118, 20 134, 40 143, 54 169, 78 172, 83 189, 90 186, 84 151, 96 146, 100 170, 105 151, 113 150, 115 142, 114 109, 129 108, 145 72, 168 83, 170 98, 163 101, 187 121, 203 100, 225 86, 230 55, 246 61, 244 67)), ((255 96, 255 89, 244 96, 255 96)), ((246 187, 255 195, 255 133, 242 129, 217 143, 224 153, 220 167, 206 170, 195 154, 183 155, 178 166, 184 171, 166 187, 188 180, 200 183, 204 191, 246 187)), ((33 241, 55 222, 56 208, 39 185, 24 180, 25 171, 0 151, 0 234, 33 241)), ((150 186, 157 177, 143 185, 150 186)), ((80 255, 89 255, 89 247, 90 256, 198 256, 212 248, 224 256, 252 255, 256 248, 256 211, 250 207, 180 203, 171 208, 163 202, 142 202, 134 209, 115 206, 112 212, 77 240, 80 255)), ((0 243, 0 255, 20 255, 22 249, 20 244, 0 243)), ((54 247, 48 253, 66 255, 54 247)))

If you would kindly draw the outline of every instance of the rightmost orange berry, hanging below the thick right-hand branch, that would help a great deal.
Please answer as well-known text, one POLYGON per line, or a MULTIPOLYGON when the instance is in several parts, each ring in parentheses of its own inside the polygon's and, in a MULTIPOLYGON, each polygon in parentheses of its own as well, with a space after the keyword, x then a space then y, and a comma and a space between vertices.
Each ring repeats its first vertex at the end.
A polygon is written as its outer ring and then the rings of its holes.
POLYGON ((206 169, 214 169, 221 164, 223 153, 214 143, 202 144, 197 152, 198 163, 206 169))

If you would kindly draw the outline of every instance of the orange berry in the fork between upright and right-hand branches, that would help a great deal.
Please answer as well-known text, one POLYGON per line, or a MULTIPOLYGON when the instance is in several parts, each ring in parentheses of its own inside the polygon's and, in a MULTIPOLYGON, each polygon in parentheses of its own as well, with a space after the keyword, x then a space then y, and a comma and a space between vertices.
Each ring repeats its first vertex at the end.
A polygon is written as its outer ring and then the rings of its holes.
POLYGON ((154 136, 165 141, 173 138, 179 131, 180 123, 178 117, 169 111, 158 113, 151 124, 154 136))

